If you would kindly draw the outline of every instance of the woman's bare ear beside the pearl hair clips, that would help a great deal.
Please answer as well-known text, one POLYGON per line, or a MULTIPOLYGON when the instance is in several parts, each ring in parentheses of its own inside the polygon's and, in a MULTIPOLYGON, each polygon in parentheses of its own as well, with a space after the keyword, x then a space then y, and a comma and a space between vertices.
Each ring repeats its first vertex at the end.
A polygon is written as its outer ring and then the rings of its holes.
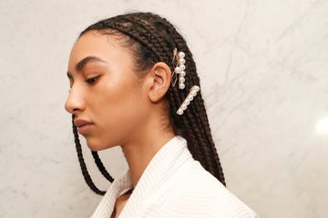
POLYGON ((171 84, 171 70, 168 64, 158 62, 150 69, 145 80, 149 100, 159 102, 169 90, 171 84))

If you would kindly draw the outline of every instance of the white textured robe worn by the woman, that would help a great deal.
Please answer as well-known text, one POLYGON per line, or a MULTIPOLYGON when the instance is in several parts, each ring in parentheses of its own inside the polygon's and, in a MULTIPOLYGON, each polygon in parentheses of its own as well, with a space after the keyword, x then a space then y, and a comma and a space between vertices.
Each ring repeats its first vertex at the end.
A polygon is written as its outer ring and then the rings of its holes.
MULTIPOLYGON (((117 198, 131 189, 129 172, 111 184, 91 218, 109 218, 117 198)), ((187 141, 175 136, 153 157, 120 218, 257 217, 195 161, 187 141)))

